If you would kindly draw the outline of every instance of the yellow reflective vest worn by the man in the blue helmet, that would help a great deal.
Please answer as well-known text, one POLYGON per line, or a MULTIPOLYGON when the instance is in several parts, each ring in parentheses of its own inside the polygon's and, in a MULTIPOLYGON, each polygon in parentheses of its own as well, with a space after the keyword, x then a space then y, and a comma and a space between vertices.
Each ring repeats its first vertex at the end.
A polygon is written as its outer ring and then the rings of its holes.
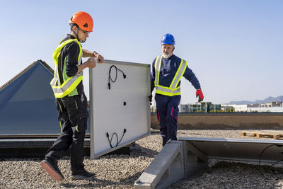
POLYGON ((183 74, 185 73, 185 69, 187 68, 187 61, 185 61, 184 63, 183 59, 181 59, 180 66, 178 67, 178 70, 175 73, 175 76, 171 82, 171 85, 168 87, 168 86, 159 85, 159 76, 160 76, 160 67, 161 67, 162 58, 163 58, 163 55, 160 55, 159 57, 156 58, 156 61, 154 63, 154 67, 155 67, 154 85, 156 87, 156 93, 162 94, 165 96, 180 95, 181 94, 180 86, 178 86, 178 84, 183 74))

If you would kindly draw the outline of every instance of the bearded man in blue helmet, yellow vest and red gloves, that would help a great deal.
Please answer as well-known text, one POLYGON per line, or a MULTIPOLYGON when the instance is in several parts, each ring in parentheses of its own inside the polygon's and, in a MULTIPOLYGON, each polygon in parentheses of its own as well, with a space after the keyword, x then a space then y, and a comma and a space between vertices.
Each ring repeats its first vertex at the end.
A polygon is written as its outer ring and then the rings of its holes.
MULTIPOLYGON (((185 77, 197 90, 196 96, 203 101, 200 82, 190 68, 187 61, 173 55, 175 39, 167 33, 161 39, 163 55, 154 59, 151 71, 151 93, 156 88, 157 118, 160 124, 162 145, 169 139, 177 140, 178 112, 180 103, 180 79, 185 77)), ((150 96, 151 101, 152 95, 150 96)))

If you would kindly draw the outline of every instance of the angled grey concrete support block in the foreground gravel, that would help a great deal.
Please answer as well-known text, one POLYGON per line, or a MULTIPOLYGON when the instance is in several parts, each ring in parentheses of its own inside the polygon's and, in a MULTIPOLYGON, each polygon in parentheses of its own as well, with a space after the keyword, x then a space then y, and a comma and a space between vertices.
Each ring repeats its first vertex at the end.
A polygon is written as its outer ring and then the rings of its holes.
POLYGON ((207 168, 207 156, 196 147, 187 141, 171 141, 134 182, 134 188, 167 188, 207 168))

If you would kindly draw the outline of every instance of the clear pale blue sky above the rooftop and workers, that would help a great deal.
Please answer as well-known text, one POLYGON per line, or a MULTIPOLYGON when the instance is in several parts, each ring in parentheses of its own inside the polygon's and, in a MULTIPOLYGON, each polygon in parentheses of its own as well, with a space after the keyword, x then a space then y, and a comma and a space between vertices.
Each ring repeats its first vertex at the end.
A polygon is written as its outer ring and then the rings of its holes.
MULTIPOLYGON (((283 1, 1 1, 0 86, 52 53, 69 33, 69 18, 94 18, 83 48, 105 59, 151 64, 163 34, 200 80, 204 101, 255 101, 283 95, 283 1)), ((88 71, 84 72, 85 85, 88 71)), ((182 79, 181 103, 195 88, 182 79)), ((86 92, 88 88, 86 87, 86 92)))

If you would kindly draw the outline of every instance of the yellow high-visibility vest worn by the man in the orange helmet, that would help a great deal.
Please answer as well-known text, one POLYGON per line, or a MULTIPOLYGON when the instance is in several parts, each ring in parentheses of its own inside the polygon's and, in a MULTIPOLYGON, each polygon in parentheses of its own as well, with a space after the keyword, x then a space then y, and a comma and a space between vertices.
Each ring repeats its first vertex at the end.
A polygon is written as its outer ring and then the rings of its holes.
MULTIPOLYGON (((83 71, 81 71, 79 74, 75 76, 68 77, 66 80, 64 79, 64 83, 61 84, 61 81, 59 79, 59 72, 58 72, 58 64, 59 64, 59 56, 61 54, 62 48, 69 44, 70 42, 77 42, 79 45, 79 57, 78 57, 78 63, 81 62, 81 58, 83 56, 83 50, 81 48, 81 44, 78 40, 66 40, 62 42, 54 51, 53 53, 53 59, 55 64, 55 70, 54 70, 54 78, 51 80, 50 85, 52 86, 52 90, 54 92, 55 98, 62 98, 64 96, 67 96, 71 91, 74 91, 76 86, 79 85, 79 83, 83 80, 83 71)), ((64 62, 65 63, 65 62, 64 62)), ((64 72, 64 71, 63 71, 64 72)), ((63 77, 64 78, 64 77, 63 77)))

